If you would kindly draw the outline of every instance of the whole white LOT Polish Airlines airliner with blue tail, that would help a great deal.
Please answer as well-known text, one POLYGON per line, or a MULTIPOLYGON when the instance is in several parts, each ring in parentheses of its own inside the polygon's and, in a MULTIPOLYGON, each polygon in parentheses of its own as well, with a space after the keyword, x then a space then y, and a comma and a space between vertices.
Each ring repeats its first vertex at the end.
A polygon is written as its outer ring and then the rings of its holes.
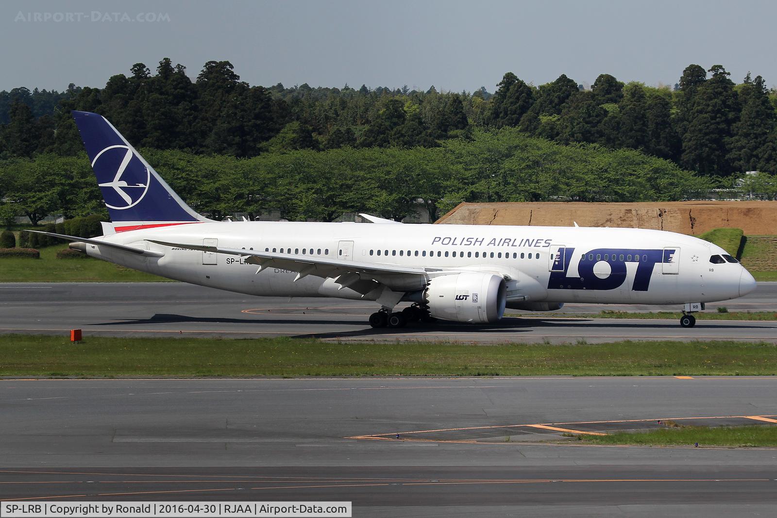
MULTIPOLYGON (((374 301, 373 327, 497 322, 565 302, 704 303, 755 289, 725 250, 639 228, 212 221, 197 214, 96 113, 73 112, 111 223, 71 248, 130 268, 258 296, 374 301), (395 311, 399 302, 412 303, 395 311)), ((45 234, 45 232, 42 232, 45 234)))

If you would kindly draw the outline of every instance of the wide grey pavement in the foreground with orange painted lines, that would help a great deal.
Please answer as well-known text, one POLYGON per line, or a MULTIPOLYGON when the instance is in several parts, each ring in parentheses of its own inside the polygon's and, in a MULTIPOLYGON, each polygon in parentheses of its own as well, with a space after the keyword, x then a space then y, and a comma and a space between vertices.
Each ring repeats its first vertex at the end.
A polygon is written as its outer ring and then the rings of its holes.
POLYGON ((0 499, 345 500, 354 516, 777 505, 777 449, 545 442, 757 422, 777 415, 775 377, 5 380, 0 415, 0 499))

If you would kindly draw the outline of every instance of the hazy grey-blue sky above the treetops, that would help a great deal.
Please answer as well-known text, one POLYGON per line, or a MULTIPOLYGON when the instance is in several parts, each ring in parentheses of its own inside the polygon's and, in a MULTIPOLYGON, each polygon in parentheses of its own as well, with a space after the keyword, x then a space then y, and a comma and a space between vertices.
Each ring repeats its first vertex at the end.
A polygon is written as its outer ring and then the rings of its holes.
POLYGON ((493 92, 507 71, 541 85, 674 85, 688 64, 723 64, 777 85, 777 2, 740 0, 368 0, 0 3, 0 90, 103 87, 163 57, 196 78, 230 61, 250 85, 493 92))

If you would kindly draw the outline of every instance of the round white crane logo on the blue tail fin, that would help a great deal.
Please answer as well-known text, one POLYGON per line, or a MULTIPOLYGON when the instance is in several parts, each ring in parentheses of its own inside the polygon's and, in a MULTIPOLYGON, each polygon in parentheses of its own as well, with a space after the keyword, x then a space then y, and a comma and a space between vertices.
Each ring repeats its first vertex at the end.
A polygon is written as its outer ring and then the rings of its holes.
POLYGON ((114 145, 92 160, 106 207, 124 210, 134 207, 148 193, 151 172, 128 146, 114 145))

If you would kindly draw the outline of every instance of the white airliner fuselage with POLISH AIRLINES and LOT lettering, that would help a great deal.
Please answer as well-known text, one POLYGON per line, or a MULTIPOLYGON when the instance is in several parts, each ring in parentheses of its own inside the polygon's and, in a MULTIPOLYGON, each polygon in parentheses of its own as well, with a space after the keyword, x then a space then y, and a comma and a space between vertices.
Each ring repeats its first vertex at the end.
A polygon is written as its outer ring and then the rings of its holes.
MULTIPOLYGON (((332 259, 503 274, 507 304, 587 302, 685 304, 723 301, 751 290, 740 264, 713 264, 720 247, 687 235, 634 228, 512 227, 445 224, 204 222, 118 232, 102 239, 163 252, 132 256, 87 245, 90 256, 243 294, 340 297, 362 294, 335 280, 266 268, 238 256, 169 248, 152 239, 332 259), (559 260, 560 259, 560 260, 559 260)), ((409 285, 407 291, 421 289, 409 285)))

